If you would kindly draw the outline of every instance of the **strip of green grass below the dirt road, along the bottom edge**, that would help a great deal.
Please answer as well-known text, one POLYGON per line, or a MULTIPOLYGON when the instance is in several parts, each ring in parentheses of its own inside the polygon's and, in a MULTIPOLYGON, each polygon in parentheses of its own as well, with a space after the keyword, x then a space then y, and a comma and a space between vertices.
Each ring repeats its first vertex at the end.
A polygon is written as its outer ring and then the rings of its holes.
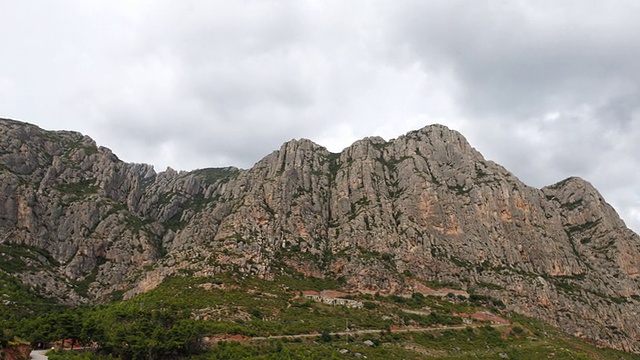
MULTIPOLYGON (((535 326, 533 327, 535 329, 535 326)), ((197 359, 638 359, 622 353, 565 338, 552 332, 540 337, 530 324, 504 327, 467 327, 424 332, 384 331, 376 334, 320 334, 316 338, 222 340, 197 359), (348 340, 348 341, 347 341, 348 340)), ((53 355, 53 356, 52 356, 53 355)), ((55 351, 52 360, 95 359, 92 353, 55 351), (64 356, 64 357, 63 357, 64 356)))

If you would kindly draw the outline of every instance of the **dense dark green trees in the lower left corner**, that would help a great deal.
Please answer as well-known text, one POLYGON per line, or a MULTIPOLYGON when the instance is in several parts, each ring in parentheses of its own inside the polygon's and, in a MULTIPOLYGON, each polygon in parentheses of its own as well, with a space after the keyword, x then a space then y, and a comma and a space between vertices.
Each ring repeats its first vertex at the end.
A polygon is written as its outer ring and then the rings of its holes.
POLYGON ((57 340, 94 347, 122 359, 158 359, 188 356, 201 349, 211 329, 203 321, 176 309, 104 307, 68 309, 56 314, 5 321, 3 342, 16 336, 34 345, 57 340))

